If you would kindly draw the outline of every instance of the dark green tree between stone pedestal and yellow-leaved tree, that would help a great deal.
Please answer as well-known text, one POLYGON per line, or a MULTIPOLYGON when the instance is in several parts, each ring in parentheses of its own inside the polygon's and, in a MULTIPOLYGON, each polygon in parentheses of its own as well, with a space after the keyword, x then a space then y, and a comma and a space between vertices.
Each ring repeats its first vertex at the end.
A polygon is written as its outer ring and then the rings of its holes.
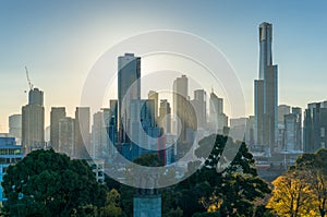
POLYGON ((257 176, 253 156, 245 143, 233 142, 222 135, 210 135, 199 142, 199 148, 195 152, 197 157, 203 157, 213 142, 213 150, 203 167, 178 184, 177 189, 183 192, 179 206, 184 216, 204 209, 217 210, 221 216, 253 215, 254 202, 270 193, 267 183, 257 176), (223 150, 223 160, 230 161, 230 165, 217 172, 223 150), (184 202, 186 198, 189 201, 184 202), (196 203, 202 205, 202 209, 196 203), (192 210, 186 210, 187 207, 192 210))

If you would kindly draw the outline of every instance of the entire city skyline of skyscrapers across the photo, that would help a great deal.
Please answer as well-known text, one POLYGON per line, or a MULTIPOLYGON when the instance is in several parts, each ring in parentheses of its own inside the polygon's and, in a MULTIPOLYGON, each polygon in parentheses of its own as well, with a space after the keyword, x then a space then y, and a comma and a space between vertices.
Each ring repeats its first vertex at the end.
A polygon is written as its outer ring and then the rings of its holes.
MULTIPOLYGON (((244 141, 253 150, 271 155, 284 150, 314 152, 326 147, 327 103, 308 104, 302 128, 301 108, 278 106, 278 68, 272 63, 272 25, 259 25, 259 76, 254 81, 254 116, 230 119, 233 131, 245 128, 244 141)), ((204 89, 189 96, 189 79, 172 83, 172 109, 168 99, 149 91, 141 97, 141 58, 125 53, 118 58, 118 99, 109 108, 94 113, 77 107, 75 117, 66 117, 64 107, 52 107, 50 138, 45 141, 44 93, 31 88, 22 114, 9 118, 10 135, 19 140, 25 154, 51 146, 76 158, 106 158, 120 152, 125 158, 157 153, 166 164, 182 157, 194 141, 195 131, 228 133, 223 100, 204 89), (209 98, 209 105, 207 104, 209 98), (208 108, 207 108, 208 106, 208 108)))

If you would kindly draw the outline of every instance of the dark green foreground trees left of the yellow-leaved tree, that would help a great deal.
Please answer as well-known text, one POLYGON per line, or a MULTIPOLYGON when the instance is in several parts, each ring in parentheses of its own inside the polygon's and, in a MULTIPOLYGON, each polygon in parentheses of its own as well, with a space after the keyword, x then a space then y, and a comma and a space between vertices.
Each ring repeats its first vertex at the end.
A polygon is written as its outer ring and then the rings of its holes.
MULTIPOLYGON (((252 154, 243 142, 213 134, 199 142, 198 160, 187 165, 190 177, 159 189, 162 216, 269 216, 264 198, 268 184, 258 178, 252 154), (204 156, 208 156, 204 159, 204 156), (225 166, 223 166, 225 165, 225 166)), ((136 164, 157 167, 156 155, 136 164)), ((164 179, 177 179, 168 169, 164 179)), ((98 184, 83 160, 70 159, 53 150, 35 150, 10 166, 2 186, 8 216, 112 216, 133 214, 135 189, 106 178, 98 184)))

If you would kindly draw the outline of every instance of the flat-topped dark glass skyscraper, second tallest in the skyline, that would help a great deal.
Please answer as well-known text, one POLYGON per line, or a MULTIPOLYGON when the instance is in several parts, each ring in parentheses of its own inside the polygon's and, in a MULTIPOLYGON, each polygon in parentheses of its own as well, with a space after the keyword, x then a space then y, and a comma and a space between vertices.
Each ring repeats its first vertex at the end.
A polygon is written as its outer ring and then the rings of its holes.
POLYGON ((141 99, 141 58, 125 53, 118 58, 118 128, 119 142, 129 142, 129 105, 132 99, 141 99))

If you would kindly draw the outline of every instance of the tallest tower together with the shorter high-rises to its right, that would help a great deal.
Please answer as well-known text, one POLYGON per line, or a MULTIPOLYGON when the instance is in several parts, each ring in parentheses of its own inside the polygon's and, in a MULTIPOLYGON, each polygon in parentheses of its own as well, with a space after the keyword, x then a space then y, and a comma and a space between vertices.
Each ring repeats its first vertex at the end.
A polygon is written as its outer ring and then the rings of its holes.
POLYGON ((326 147, 326 101, 307 105, 302 130, 302 109, 278 106, 278 73, 272 64, 272 25, 259 25, 259 79, 254 81, 254 147, 268 155, 278 152, 315 152, 326 147), (303 132, 303 133, 302 133, 303 132))

